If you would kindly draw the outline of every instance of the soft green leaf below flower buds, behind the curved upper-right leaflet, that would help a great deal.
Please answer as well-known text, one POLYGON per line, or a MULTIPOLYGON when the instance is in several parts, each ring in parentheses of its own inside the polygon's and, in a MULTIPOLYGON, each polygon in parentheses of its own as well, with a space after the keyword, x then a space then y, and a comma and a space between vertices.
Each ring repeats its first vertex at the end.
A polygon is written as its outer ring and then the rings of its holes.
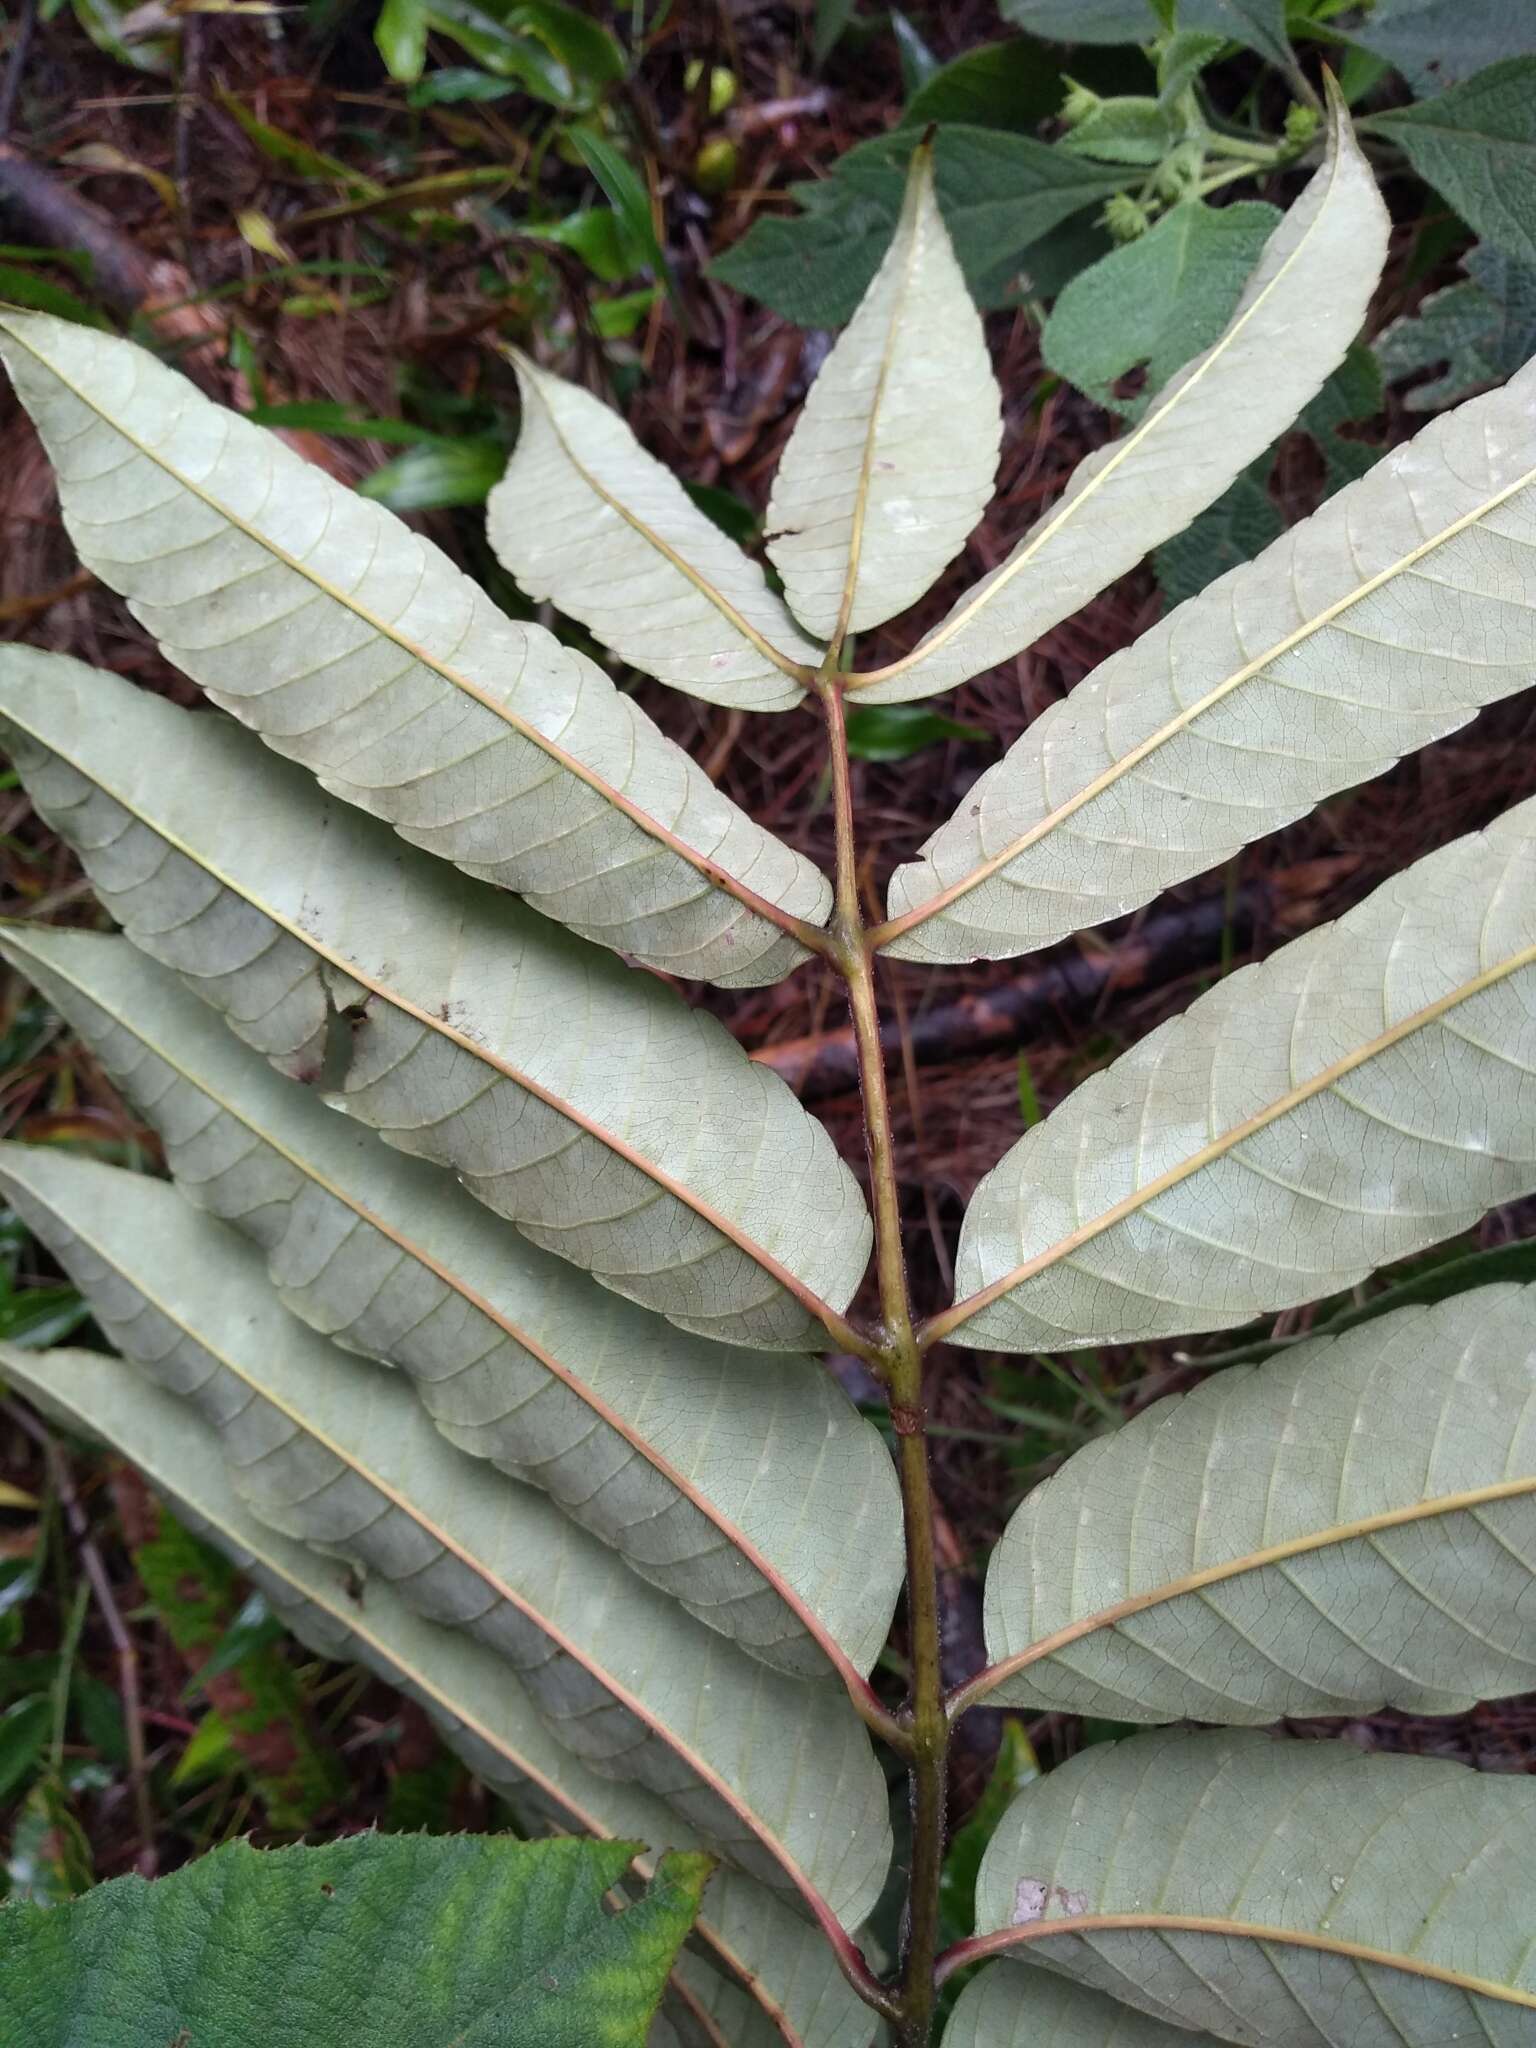
POLYGON ((1217 209, 1186 199, 1067 285, 1044 324, 1040 354, 1100 403, 1137 412, 1139 401, 1114 397, 1116 381, 1145 362, 1151 395, 1208 348, 1278 219, 1255 201, 1217 209))

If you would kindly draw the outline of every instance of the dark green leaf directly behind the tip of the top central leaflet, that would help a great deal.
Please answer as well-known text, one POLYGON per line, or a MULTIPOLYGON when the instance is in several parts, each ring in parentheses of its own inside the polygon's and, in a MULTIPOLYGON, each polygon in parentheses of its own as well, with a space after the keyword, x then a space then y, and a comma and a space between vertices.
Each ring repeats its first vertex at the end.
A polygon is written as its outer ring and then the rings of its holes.
MULTIPOLYGON (((803 328, 842 326, 895 229, 913 143, 911 129, 883 135, 840 158, 829 178, 793 186, 805 211, 756 221, 713 274, 803 328)), ((977 293, 983 283, 1008 291, 1032 244, 1120 182, 1122 174, 1032 135, 954 125, 934 141, 938 203, 977 293)))

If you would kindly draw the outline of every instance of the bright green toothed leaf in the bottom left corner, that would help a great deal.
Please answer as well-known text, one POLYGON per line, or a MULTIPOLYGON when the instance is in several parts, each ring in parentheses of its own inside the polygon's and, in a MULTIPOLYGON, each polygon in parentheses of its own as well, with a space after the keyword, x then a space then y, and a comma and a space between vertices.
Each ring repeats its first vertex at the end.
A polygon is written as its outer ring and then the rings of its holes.
POLYGON ((633 1853, 508 1835, 225 1843, 156 1884, 0 1909, 0 2015, 27 2048, 643 2048, 709 1858, 664 1858, 608 1913, 633 1853))

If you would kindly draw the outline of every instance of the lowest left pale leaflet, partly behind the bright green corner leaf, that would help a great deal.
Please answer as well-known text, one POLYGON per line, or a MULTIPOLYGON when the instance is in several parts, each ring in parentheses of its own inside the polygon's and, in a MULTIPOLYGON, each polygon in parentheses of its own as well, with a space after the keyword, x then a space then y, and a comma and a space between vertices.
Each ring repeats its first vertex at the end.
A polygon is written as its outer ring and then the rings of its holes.
MULTIPOLYGON (((532 1825, 641 1841, 641 1872, 653 1870, 664 1847, 698 1845, 662 1800, 635 1784, 598 1778, 563 1749, 522 1688, 508 1683, 494 1651, 459 1628, 424 1620, 377 1573, 354 1583, 338 1559, 260 1522, 229 1483, 217 1436, 184 1401, 96 1352, 37 1358, 0 1346, 0 1372, 66 1427, 100 1436, 131 1458, 188 1526, 268 1593, 313 1651, 365 1663, 422 1704, 469 1767, 532 1825)), ((788 2048, 860 2042, 864 2009, 831 1948, 752 1878, 715 1872, 696 1939, 776 2028, 768 2040, 788 2048)))

